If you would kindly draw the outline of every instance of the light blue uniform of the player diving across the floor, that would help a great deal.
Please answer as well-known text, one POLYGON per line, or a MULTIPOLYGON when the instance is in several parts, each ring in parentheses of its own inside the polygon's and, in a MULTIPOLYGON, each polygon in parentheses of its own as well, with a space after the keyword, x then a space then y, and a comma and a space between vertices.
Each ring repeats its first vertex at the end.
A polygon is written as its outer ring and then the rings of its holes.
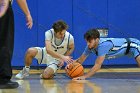
MULTIPOLYGON (((140 55, 140 41, 135 38, 129 38, 130 50, 127 56, 138 57, 140 55)), ((127 49, 127 41, 125 38, 100 38, 96 49, 89 49, 86 46, 84 55, 95 53, 97 56, 105 56, 106 59, 118 58, 125 56, 127 49)))

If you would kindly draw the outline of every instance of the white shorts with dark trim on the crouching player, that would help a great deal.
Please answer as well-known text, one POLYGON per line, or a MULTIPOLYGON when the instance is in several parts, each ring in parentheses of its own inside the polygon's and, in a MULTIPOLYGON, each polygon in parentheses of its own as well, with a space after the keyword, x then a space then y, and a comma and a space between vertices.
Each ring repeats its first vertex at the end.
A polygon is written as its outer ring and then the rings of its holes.
POLYGON ((46 64, 47 67, 50 67, 54 70, 54 73, 58 70, 58 64, 60 63, 58 59, 47 54, 46 48, 35 47, 38 50, 35 58, 38 60, 39 64, 46 64))

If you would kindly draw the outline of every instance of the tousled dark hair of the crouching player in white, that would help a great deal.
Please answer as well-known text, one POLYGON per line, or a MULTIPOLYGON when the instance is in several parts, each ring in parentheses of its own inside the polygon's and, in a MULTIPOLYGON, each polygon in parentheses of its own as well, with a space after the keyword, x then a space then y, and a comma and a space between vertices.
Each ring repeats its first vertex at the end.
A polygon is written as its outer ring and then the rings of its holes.
POLYGON ((68 29, 68 25, 63 20, 58 20, 57 22, 55 22, 52 25, 52 28, 57 33, 57 32, 61 32, 62 30, 67 30, 68 29))

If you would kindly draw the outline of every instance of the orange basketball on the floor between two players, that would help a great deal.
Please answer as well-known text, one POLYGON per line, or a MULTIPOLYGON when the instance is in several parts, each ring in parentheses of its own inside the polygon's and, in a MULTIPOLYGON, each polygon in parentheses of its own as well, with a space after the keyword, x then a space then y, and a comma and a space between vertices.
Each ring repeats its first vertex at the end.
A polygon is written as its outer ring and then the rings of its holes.
POLYGON ((74 62, 68 65, 69 68, 65 68, 65 71, 70 78, 75 78, 84 74, 84 68, 80 63, 74 62))

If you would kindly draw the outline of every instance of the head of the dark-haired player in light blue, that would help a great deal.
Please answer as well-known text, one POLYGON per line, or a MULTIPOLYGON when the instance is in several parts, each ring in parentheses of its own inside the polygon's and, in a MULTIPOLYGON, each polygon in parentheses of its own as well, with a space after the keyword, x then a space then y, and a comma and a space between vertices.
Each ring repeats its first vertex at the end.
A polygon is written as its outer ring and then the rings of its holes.
POLYGON ((84 34, 84 38, 90 49, 96 48, 100 38, 100 33, 97 29, 90 29, 84 34))

